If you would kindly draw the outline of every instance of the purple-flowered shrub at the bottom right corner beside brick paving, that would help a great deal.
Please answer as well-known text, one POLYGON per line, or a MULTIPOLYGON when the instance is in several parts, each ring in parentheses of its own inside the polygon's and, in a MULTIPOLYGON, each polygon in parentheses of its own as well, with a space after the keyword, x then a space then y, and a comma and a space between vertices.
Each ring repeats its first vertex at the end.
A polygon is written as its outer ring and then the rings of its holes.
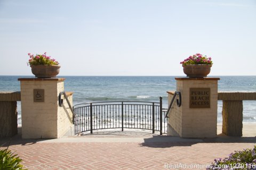
POLYGON ((256 169, 256 146, 229 154, 221 160, 214 159, 214 163, 207 169, 256 169))

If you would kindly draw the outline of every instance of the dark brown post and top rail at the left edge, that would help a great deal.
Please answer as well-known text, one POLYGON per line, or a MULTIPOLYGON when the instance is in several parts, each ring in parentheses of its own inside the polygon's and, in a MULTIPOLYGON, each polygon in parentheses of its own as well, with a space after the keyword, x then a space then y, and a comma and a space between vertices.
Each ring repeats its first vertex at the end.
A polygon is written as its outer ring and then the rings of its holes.
POLYGON ((20 92, 0 92, 0 138, 18 133, 17 101, 20 101, 20 92))

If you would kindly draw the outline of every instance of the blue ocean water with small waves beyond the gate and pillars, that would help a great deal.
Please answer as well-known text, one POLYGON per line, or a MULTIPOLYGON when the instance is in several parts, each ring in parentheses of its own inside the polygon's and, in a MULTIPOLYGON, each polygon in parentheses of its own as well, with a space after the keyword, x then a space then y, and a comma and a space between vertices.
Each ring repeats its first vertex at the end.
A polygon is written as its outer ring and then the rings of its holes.
MULTIPOLYGON (((218 77, 218 76, 215 76, 218 77)), ((0 91, 20 91, 18 78, 33 76, 0 76, 0 91)), ((73 104, 97 101, 155 101, 163 97, 167 108, 166 91, 175 91, 174 76, 61 76, 66 78, 65 91, 74 92, 73 104)), ((220 76, 218 91, 256 92, 256 76, 220 76)), ((18 124, 21 108, 18 102, 18 124)), ((222 122, 222 100, 218 101, 218 123, 222 122)), ((243 101, 243 123, 256 123, 256 101, 243 101)))

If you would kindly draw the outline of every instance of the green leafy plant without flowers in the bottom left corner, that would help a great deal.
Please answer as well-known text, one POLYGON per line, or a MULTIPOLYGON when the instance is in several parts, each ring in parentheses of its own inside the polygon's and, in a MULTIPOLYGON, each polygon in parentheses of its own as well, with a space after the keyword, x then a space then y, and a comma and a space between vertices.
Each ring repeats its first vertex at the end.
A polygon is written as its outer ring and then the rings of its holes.
POLYGON ((20 164, 22 159, 14 155, 10 150, 0 149, 0 170, 18 170, 23 169, 20 164))

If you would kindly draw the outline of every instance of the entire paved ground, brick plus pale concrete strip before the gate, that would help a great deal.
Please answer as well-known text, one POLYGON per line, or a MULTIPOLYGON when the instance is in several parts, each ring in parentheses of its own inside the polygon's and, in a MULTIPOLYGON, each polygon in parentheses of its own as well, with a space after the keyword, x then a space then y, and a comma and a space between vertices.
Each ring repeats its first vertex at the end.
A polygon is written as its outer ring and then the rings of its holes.
MULTIPOLYGON (((255 127, 244 126, 242 138, 219 134, 214 139, 182 139, 134 131, 51 140, 22 140, 17 135, 9 149, 23 159, 22 164, 28 169, 205 169, 215 158, 253 148, 255 127)), ((1 139, 0 145, 5 143, 5 148, 8 142, 1 139)))

